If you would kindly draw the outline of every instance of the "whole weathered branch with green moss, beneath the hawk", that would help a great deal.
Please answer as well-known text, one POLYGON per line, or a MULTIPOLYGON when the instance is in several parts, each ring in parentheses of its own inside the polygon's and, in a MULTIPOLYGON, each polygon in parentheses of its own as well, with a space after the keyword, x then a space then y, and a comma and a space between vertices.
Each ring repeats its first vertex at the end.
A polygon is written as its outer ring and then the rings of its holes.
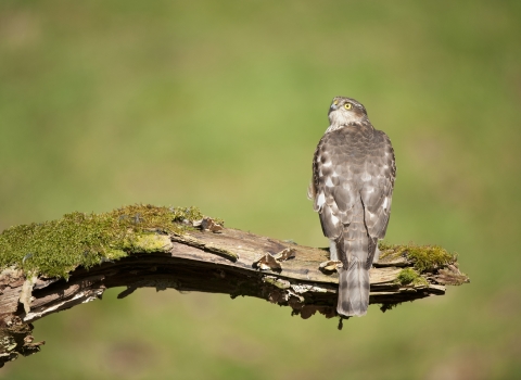
MULTIPOLYGON (((370 271, 371 304, 382 311, 468 282, 456 256, 437 246, 381 244, 370 271)), ((193 207, 122 207, 73 213, 0 235, 0 365, 38 352, 31 321, 152 287, 250 295, 290 306, 302 318, 335 317, 336 271, 319 269, 327 250, 223 228, 193 207)))

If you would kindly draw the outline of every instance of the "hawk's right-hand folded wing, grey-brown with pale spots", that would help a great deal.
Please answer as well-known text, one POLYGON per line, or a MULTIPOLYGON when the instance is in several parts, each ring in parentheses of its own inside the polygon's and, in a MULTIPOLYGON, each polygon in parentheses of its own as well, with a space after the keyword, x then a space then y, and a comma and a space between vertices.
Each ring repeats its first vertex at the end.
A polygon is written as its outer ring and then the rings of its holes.
POLYGON ((376 132, 373 149, 361 175, 361 200, 369 236, 383 239, 391 215, 396 165, 391 140, 384 132, 376 132))

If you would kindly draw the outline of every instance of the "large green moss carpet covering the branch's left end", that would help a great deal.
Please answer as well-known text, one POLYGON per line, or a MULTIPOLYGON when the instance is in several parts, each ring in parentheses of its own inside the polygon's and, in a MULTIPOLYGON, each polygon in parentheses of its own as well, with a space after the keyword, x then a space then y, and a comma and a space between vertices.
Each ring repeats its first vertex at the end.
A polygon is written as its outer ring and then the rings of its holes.
MULTIPOLYGON (((0 233, 0 270, 15 266, 25 273, 67 278, 78 265, 90 268, 147 245, 150 242, 143 242, 143 235, 180 233, 190 226, 183 220, 202 217, 195 207, 136 204, 103 214, 75 212, 58 220, 11 227, 0 233)), ((162 244, 160 240, 153 243, 162 244)))

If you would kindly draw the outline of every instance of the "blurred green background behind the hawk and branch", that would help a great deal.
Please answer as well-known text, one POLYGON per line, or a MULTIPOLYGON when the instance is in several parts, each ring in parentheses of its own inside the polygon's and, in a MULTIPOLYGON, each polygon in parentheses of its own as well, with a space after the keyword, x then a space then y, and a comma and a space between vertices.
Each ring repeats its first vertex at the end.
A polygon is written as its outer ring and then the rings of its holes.
POLYGON ((1 379, 521 377, 519 1, 0 2, 0 229, 196 205, 325 246, 306 199, 334 96, 392 139, 386 240, 472 282, 351 319, 139 290, 35 324, 1 379))

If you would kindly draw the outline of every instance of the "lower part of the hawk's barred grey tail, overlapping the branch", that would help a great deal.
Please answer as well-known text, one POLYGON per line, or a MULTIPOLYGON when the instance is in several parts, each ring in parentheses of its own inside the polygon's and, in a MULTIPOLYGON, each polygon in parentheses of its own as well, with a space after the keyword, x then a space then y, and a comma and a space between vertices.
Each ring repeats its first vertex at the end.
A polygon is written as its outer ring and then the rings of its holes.
POLYGON ((353 261, 340 271, 336 312, 343 316, 361 317, 369 306, 369 270, 365 263, 353 261))

